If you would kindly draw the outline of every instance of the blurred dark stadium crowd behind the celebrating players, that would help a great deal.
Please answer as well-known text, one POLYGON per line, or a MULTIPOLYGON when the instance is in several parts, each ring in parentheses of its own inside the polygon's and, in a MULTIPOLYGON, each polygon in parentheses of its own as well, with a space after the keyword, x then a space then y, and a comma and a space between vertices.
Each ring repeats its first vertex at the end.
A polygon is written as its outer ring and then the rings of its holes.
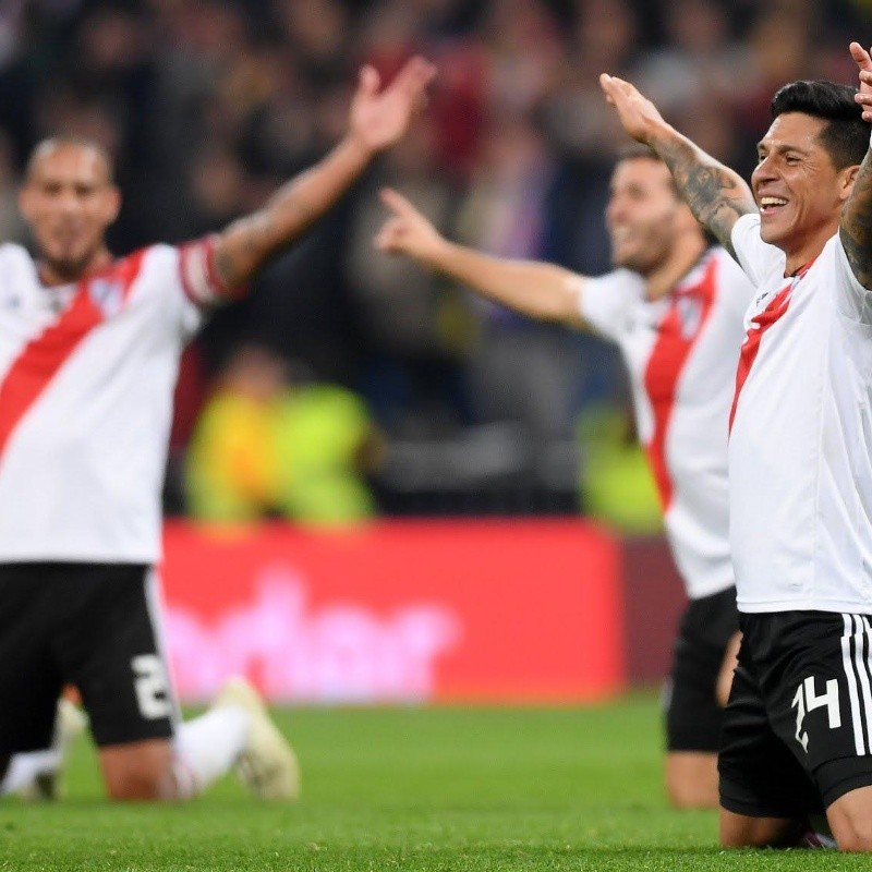
POLYGON ((2 0, 0 239, 23 238, 16 186, 52 132, 114 155, 116 252, 220 228, 338 140, 361 63, 388 77, 421 51, 439 68, 423 121, 186 354, 167 509, 576 511, 584 477, 583 508, 629 506, 617 520, 644 526, 657 512, 626 449, 616 352, 375 253, 376 192, 397 187, 495 254, 606 271, 603 209, 626 141, 598 73, 630 78, 747 174, 773 89, 852 82, 847 45, 872 39, 870 23, 864 0, 2 0), (269 424, 251 413, 265 398, 278 398, 269 424), (247 508, 204 477, 228 462, 208 444, 227 428, 252 449, 247 508), (264 462, 267 431, 278 447, 264 462), (292 499, 264 493, 286 455, 292 499), (299 498, 331 464, 329 486, 299 498))

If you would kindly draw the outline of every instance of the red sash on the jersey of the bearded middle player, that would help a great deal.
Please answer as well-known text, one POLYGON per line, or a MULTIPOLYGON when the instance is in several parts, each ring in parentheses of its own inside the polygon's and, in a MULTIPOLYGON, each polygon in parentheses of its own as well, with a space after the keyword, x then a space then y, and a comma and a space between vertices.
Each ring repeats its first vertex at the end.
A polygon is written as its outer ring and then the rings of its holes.
POLYGON ((645 450, 664 511, 673 499, 666 434, 675 411, 678 379, 712 312, 716 272, 717 261, 712 257, 699 283, 673 293, 669 308, 657 325, 657 341, 645 367, 645 393, 654 414, 654 434, 645 450))

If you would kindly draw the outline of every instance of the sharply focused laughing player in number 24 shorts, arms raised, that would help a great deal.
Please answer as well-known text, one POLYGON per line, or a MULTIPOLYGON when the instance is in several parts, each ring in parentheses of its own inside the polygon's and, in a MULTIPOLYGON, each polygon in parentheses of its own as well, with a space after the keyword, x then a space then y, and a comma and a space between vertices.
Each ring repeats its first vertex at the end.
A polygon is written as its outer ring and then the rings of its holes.
POLYGON ((756 293, 730 413, 742 643, 719 754, 720 840, 789 845, 810 803, 872 850, 872 60, 860 88, 776 92, 749 186, 601 77, 756 293))

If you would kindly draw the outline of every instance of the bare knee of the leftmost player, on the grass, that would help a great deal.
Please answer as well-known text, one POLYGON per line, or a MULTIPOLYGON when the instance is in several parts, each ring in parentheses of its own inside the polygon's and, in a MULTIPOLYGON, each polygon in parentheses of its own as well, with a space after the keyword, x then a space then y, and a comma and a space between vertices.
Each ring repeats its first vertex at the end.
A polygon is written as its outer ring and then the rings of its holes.
POLYGON ((116 800, 174 799, 172 750, 166 739, 100 749, 107 792, 116 800))

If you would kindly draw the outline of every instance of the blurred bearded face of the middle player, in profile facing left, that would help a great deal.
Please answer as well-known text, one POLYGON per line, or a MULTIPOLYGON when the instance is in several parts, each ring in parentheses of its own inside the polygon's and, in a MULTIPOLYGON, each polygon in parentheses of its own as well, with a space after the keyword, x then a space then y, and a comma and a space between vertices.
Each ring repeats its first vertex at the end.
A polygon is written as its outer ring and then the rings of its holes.
POLYGON ((606 225, 611 263, 650 275, 670 254, 686 206, 666 165, 646 157, 621 160, 611 174, 606 225))

